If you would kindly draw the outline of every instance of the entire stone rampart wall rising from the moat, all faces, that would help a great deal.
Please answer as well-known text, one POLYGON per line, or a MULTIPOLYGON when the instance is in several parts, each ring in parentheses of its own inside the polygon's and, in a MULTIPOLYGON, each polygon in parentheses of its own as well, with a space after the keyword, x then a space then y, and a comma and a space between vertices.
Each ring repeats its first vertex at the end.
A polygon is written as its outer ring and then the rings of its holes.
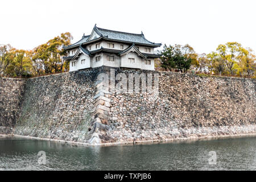
POLYGON ((92 145, 256 134, 256 80, 124 68, 112 76, 118 73, 158 74, 158 96, 116 93, 108 67, 2 78, 0 123, 15 135, 92 145))

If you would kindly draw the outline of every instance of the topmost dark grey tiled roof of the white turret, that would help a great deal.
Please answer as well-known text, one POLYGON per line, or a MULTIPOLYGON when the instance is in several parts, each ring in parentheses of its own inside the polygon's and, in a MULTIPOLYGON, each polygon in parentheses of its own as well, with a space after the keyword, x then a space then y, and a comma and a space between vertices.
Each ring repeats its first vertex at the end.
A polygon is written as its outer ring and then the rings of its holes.
MULTIPOLYGON (((100 39, 106 39, 106 40, 113 40, 113 41, 118 41, 118 42, 127 42, 127 43, 135 43, 135 44, 143 44, 146 46, 154 46, 154 47, 159 47, 162 44, 158 43, 152 43, 148 41, 143 33, 141 34, 131 34, 127 32, 120 32, 120 31, 114 31, 114 30, 107 30, 104 28, 98 28, 96 26, 93 27, 93 30, 97 32, 97 34, 100 35, 100 39)), ((75 44, 65 46, 63 48, 71 48, 71 47, 77 47, 80 46, 81 44, 84 44, 86 42, 91 42, 93 40, 89 40, 88 38, 90 35, 82 36, 82 39, 76 42, 75 44)))

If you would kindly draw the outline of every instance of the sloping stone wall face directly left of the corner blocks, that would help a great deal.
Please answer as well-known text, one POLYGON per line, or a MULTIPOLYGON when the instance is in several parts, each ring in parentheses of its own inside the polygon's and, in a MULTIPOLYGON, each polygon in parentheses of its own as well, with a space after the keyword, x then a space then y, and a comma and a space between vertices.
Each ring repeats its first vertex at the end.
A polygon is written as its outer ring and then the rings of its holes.
POLYGON ((15 135, 86 143, 98 69, 30 78, 15 135))

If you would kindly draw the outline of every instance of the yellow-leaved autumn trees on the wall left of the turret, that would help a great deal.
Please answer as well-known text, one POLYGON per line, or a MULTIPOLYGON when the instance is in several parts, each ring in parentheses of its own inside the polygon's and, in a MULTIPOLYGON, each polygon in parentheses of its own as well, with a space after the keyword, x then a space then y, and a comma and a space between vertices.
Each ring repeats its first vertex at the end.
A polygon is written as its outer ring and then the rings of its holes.
POLYGON ((0 76, 29 77, 68 71, 67 56, 63 46, 71 44, 69 32, 49 40, 31 51, 15 49, 10 45, 0 47, 0 76))

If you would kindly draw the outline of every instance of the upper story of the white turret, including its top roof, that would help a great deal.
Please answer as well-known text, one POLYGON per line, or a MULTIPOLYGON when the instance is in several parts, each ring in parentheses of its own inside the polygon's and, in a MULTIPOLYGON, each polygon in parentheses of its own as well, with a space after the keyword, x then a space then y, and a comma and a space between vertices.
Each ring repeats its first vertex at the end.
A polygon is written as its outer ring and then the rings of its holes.
POLYGON ((111 49, 112 51, 122 52, 135 44, 136 48, 146 55, 154 55, 154 48, 160 47, 162 44, 152 43, 148 41, 143 33, 131 34, 121 31, 107 30, 99 28, 96 25, 90 35, 82 36, 78 42, 64 47, 67 49, 69 56, 74 56, 76 51, 82 46, 89 52, 97 52, 101 49, 111 49))

